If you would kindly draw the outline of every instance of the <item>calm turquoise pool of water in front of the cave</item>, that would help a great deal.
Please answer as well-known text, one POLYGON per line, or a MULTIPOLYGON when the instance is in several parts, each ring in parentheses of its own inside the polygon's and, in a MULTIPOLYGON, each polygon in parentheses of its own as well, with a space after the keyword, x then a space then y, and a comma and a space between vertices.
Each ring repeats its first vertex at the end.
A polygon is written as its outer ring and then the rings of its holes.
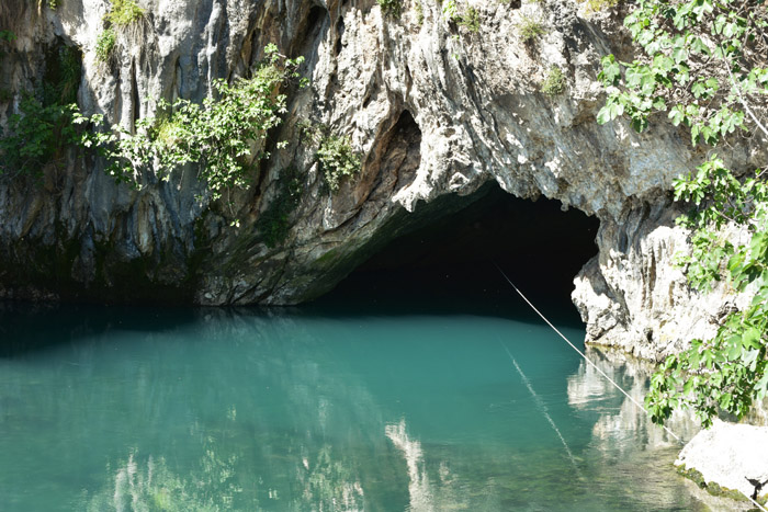
POLYGON ((700 509, 678 445, 504 306, 7 308, 0 510, 700 509))

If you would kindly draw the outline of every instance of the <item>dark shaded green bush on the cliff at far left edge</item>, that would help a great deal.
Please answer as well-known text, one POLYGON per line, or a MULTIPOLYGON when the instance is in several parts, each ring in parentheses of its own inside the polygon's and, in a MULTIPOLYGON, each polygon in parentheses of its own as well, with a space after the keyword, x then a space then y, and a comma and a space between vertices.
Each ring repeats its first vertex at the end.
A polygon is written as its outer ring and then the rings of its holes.
POLYGON ((50 162, 58 162, 68 145, 78 140, 71 118, 76 105, 44 105, 25 94, 19 113, 8 118, 0 132, 0 174, 39 174, 50 162))

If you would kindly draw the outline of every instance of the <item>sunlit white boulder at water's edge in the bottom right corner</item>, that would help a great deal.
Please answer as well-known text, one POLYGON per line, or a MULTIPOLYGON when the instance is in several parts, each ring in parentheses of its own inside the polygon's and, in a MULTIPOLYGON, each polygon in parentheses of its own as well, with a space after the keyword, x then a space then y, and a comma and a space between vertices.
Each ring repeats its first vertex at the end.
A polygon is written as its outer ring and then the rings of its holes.
POLYGON ((680 452, 675 465, 710 493, 768 502, 768 426, 715 420, 680 452))

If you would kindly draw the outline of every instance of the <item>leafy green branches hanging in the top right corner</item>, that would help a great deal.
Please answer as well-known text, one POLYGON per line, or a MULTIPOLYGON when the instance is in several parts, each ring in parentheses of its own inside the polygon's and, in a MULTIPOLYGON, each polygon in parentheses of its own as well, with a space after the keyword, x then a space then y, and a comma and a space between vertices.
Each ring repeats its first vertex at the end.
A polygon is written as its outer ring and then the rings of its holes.
POLYGON ((599 78, 621 88, 610 92, 599 123, 626 115, 642 132, 650 116, 666 113, 690 128, 693 144, 709 145, 746 129, 747 105, 759 104, 768 87, 768 45, 756 36, 768 27, 765 5, 741 11, 731 0, 693 0, 674 9, 644 1, 624 24, 646 57, 602 59, 599 78))

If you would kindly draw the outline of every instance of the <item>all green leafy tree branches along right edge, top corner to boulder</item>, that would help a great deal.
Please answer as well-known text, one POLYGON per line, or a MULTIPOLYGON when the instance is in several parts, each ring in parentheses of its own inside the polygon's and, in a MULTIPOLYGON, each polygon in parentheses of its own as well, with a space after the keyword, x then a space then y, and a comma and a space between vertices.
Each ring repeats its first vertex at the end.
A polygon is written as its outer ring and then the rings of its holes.
MULTIPOLYGON (((664 115, 687 127, 693 145, 714 148, 735 137, 766 145, 765 0, 640 0, 624 25, 643 52, 632 62, 602 59, 608 99, 598 123, 625 116, 642 132, 664 115)), ((726 278, 735 291, 756 288, 746 310, 729 315, 711 340, 669 356, 651 379, 653 421, 689 407, 709 425, 719 410, 741 418, 768 390, 768 185, 763 170, 736 177, 710 151, 675 181, 675 198, 692 206, 678 219, 692 229, 692 254, 681 260, 691 285, 705 292, 726 278), (719 236, 725 224, 748 230, 749 242, 719 236)))

